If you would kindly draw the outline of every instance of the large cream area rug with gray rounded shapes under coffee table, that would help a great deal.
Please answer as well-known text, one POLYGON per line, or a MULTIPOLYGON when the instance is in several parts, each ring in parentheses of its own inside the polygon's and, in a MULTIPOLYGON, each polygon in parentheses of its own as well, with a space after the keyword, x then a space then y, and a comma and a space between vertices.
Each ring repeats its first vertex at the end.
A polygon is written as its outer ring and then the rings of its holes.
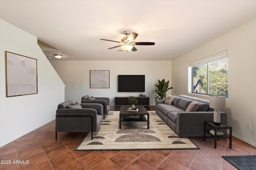
POLYGON ((156 150, 156 149, 199 149, 188 138, 180 138, 155 111, 147 122, 122 122, 119 129, 119 111, 111 111, 97 132, 88 133, 75 150, 156 150))

